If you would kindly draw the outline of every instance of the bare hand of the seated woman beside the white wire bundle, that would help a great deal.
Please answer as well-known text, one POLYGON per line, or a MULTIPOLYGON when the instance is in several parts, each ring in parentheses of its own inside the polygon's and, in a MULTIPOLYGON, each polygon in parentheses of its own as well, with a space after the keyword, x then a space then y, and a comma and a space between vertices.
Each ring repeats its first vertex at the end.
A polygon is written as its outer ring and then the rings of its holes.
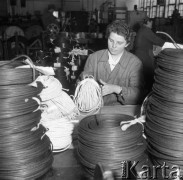
POLYGON ((122 88, 118 85, 107 84, 106 82, 100 79, 100 83, 102 84, 102 96, 106 96, 108 94, 116 93, 119 94, 122 88))

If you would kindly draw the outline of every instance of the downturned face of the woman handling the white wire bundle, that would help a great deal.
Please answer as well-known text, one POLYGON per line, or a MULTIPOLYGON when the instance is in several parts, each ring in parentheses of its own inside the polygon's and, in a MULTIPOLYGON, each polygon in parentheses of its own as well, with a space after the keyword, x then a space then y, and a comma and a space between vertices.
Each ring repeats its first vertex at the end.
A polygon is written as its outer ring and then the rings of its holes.
POLYGON ((122 53, 127 45, 127 41, 123 36, 114 32, 110 33, 108 37, 108 50, 112 55, 122 53))

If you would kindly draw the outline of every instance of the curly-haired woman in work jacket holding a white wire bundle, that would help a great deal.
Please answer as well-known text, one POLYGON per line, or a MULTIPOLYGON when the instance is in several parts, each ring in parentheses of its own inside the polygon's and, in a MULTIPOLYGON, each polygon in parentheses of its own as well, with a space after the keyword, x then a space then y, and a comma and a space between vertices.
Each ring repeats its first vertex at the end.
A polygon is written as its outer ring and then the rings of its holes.
POLYGON ((108 49, 91 54, 81 78, 92 75, 102 85, 104 105, 139 104, 144 98, 143 65, 125 50, 129 44, 130 29, 116 20, 106 30, 108 49))

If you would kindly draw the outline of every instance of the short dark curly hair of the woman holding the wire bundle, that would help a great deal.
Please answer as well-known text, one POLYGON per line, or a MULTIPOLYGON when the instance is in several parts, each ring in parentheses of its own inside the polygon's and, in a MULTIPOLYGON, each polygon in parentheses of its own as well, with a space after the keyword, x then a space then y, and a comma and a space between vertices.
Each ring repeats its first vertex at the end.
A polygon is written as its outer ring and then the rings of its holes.
POLYGON ((115 20, 107 26, 106 38, 109 37, 111 32, 123 36, 127 42, 130 41, 130 28, 122 20, 115 20))

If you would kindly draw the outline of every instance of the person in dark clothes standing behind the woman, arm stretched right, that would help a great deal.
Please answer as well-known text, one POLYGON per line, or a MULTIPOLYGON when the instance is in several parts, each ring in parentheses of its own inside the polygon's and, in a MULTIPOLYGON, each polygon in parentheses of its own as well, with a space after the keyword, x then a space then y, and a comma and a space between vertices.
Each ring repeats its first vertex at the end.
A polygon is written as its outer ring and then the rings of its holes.
POLYGON ((137 32, 135 38, 135 51, 134 54, 142 61, 145 78, 145 89, 147 93, 151 91, 154 82, 154 55, 153 45, 162 47, 165 43, 164 40, 156 36, 151 30, 152 21, 146 17, 143 21, 142 27, 137 32))

